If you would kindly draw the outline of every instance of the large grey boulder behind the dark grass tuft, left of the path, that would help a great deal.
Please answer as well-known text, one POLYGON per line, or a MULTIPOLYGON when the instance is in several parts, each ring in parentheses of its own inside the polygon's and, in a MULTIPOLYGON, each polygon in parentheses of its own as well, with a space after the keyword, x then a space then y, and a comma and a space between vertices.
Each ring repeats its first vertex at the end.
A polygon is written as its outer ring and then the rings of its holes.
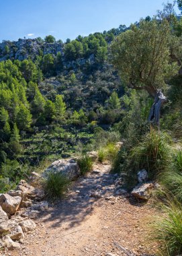
POLYGON ((49 172, 60 172, 64 174, 69 180, 73 181, 81 174, 79 164, 73 159, 60 159, 54 161, 42 174, 47 177, 49 172))

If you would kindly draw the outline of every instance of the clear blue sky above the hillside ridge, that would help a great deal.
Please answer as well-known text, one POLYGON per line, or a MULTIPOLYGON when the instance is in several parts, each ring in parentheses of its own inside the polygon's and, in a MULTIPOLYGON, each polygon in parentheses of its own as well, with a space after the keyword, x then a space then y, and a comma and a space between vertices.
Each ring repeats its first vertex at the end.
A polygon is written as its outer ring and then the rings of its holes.
POLYGON ((0 0, 0 42, 48 34, 63 41, 87 36, 152 16, 163 9, 163 3, 167 1, 0 0))

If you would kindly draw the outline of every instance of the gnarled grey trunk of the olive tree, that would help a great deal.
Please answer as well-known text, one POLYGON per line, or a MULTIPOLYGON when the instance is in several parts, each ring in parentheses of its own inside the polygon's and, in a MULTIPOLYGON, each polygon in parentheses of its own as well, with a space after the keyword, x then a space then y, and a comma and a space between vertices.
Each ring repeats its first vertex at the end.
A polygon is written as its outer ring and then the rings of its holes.
POLYGON ((156 91, 156 96, 154 97, 154 103, 150 108, 150 114, 148 117, 148 121, 151 125, 157 126, 159 128, 160 125, 160 115, 161 115, 161 106, 167 102, 167 98, 164 96, 161 90, 156 91))

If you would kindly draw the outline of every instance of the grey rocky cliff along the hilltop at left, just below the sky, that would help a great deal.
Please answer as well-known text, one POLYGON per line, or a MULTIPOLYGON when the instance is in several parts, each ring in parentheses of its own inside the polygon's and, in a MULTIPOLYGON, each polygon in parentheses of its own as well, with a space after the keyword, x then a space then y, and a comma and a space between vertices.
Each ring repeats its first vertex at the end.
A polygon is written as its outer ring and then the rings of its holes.
POLYGON ((43 42, 38 39, 19 39, 18 41, 3 41, 0 43, 0 61, 7 59, 34 59, 36 55, 48 53, 56 55, 60 52, 63 55, 63 44, 60 42, 43 42))

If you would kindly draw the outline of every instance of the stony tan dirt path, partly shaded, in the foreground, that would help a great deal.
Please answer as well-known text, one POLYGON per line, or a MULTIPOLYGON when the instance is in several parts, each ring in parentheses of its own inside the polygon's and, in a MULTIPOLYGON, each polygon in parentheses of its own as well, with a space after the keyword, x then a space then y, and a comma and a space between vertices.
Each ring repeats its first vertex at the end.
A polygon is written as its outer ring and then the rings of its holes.
POLYGON ((154 209, 115 195, 116 175, 109 174, 109 168, 108 164, 95 165, 64 201, 40 216, 38 227, 26 234, 21 250, 7 255, 126 255, 117 245, 135 255, 152 255, 154 247, 146 242, 146 226, 154 209))

